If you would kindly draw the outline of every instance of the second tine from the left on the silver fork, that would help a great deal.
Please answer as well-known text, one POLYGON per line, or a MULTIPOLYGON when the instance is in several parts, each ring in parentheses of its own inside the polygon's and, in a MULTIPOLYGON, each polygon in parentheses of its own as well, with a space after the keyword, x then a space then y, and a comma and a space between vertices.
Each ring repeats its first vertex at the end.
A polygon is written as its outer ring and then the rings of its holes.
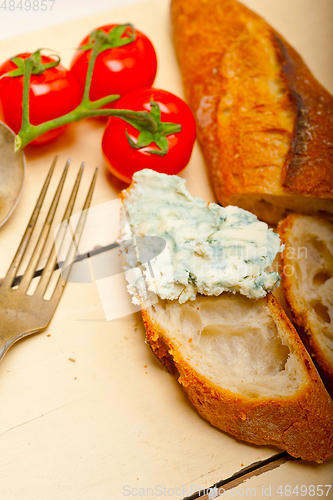
POLYGON ((58 207, 58 203, 59 203, 59 199, 60 199, 60 196, 61 196, 61 192, 62 192, 62 189, 63 189, 64 184, 65 184, 65 180, 66 180, 66 175, 67 175, 67 172, 68 172, 69 164, 70 164, 70 161, 67 160, 65 168, 64 168, 63 173, 61 175, 61 178, 60 178, 57 190, 56 190, 55 195, 53 197, 51 206, 49 208, 46 220, 44 222, 43 228, 41 230, 41 233, 39 235, 38 241, 36 243, 36 246, 34 248, 32 256, 30 258, 28 267, 27 267, 27 269, 26 269, 26 271, 25 271, 25 273, 23 275, 21 283, 19 284, 19 291, 22 292, 22 293, 24 293, 24 292, 26 292, 28 290, 29 285, 31 283, 31 280, 32 280, 32 278, 33 278, 33 276, 35 274, 35 271, 36 271, 37 264, 39 262, 40 256, 42 255, 43 249, 45 247, 45 244, 46 244, 46 241, 47 241, 47 237, 49 235, 49 232, 50 232, 50 229, 51 229, 51 225, 52 225, 52 222, 53 222, 53 219, 54 219, 54 215, 55 215, 55 212, 56 212, 57 207, 58 207))

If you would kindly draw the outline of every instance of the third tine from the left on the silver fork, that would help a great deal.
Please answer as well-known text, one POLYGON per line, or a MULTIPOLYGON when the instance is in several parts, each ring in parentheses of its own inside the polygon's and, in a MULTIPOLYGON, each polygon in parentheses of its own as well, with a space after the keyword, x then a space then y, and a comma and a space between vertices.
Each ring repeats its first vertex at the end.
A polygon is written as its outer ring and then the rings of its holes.
MULTIPOLYGON (((78 190, 79 190, 80 181, 81 181, 82 174, 83 174, 83 169, 84 169, 84 163, 81 164, 81 167, 80 167, 79 172, 77 174, 76 181, 75 181, 71 196, 69 198, 64 216, 62 218, 62 222, 69 219, 72 212, 73 212, 73 207, 74 207, 74 203, 76 200, 76 195, 77 195, 78 190)), ((59 229, 59 232, 56 236, 55 242, 53 243, 51 253, 50 253, 49 258, 47 260, 46 266, 44 267, 44 270, 43 270, 41 279, 38 283, 37 290, 36 290, 35 294, 39 294, 39 295, 43 296, 45 291, 46 291, 46 288, 47 288, 49 281, 50 281, 50 277, 51 277, 51 275, 54 271, 55 265, 57 263, 56 244, 58 245, 58 243, 59 243, 58 248, 60 248, 60 246, 64 240, 64 237, 65 237, 66 231, 64 229, 65 229, 65 226, 63 226, 59 229)))

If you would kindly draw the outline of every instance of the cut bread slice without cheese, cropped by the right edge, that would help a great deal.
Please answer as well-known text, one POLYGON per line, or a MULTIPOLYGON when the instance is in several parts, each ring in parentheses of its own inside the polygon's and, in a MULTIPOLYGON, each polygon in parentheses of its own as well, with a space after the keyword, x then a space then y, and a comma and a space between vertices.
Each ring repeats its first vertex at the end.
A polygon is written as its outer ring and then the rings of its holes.
MULTIPOLYGON (((322 285, 325 283, 313 284, 313 278, 318 273, 323 273, 322 262, 319 261, 318 255, 306 255, 308 261, 313 259, 313 271, 308 264, 311 276, 308 276, 307 282, 302 285, 302 271, 304 271, 304 262, 302 263, 302 253, 306 250, 307 253, 311 251, 311 241, 309 241, 309 233, 318 238, 320 242, 320 229, 325 228, 327 234, 331 236, 331 244, 333 242, 333 224, 320 217, 309 217, 302 215, 290 215, 278 226, 280 237, 285 244, 285 250, 281 254, 282 265, 282 282, 283 293, 292 313, 292 319, 297 330, 302 338, 302 341, 311 354, 312 359, 325 383, 326 389, 333 397, 333 336, 330 318, 333 311, 333 304, 331 307, 324 305, 327 311, 326 323, 317 320, 315 309, 311 304, 322 303, 323 298, 326 298, 327 304, 330 306, 332 297, 330 291, 322 293, 322 285), (301 234, 295 232, 296 224, 301 227, 301 234), (299 252, 299 248, 303 252, 299 252), (290 272, 293 269, 294 272, 290 272), (313 276, 312 276, 313 275, 313 276), (328 296, 329 294, 329 296, 328 296), (325 344, 321 341, 323 336, 325 344), (327 344, 331 344, 331 349, 327 348, 327 344)), ((324 244, 328 244, 326 241, 324 244)), ((328 252, 327 252, 328 254, 328 252)), ((322 255, 322 259, 326 260, 324 266, 326 268, 325 278, 333 275, 333 260, 329 255, 322 255), (325 259, 326 257, 326 259, 325 259)), ((327 287, 327 285, 326 285, 327 287)), ((320 311, 319 311, 320 312, 320 311)), ((324 317, 325 319, 325 317, 324 317)))

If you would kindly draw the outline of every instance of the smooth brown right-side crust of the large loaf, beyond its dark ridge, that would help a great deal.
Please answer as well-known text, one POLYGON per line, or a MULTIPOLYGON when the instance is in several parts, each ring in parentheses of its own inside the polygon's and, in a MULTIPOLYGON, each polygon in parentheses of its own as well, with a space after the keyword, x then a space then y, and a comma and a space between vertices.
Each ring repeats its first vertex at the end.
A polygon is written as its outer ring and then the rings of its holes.
POLYGON ((333 198, 333 97, 315 79, 296 50, 277 33, 275 38, 297 113, 283 186, 293 193, 333 198))

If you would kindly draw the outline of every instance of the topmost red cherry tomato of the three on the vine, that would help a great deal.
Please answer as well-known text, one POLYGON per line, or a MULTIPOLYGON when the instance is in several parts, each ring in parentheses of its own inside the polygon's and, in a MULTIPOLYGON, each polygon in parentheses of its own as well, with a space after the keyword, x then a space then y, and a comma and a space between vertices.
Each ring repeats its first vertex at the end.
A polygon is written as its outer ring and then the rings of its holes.
MULTIPOLYGON (((115 26, 109 24, 97 29, 109 33, 115 26)), ((157 70, 156 53, 149 38, 138 30, 135 34, 134 42, 107 49, 97 56, 89 94, 92 101, 112 94, 124 95, 133 89, 152 85, 157 70)), ((80 47, 88 42, 89 35, 82 40, 80 47)), ((92 49, 77 50, 71 64, 82 92, 91 52, 92 49)))

